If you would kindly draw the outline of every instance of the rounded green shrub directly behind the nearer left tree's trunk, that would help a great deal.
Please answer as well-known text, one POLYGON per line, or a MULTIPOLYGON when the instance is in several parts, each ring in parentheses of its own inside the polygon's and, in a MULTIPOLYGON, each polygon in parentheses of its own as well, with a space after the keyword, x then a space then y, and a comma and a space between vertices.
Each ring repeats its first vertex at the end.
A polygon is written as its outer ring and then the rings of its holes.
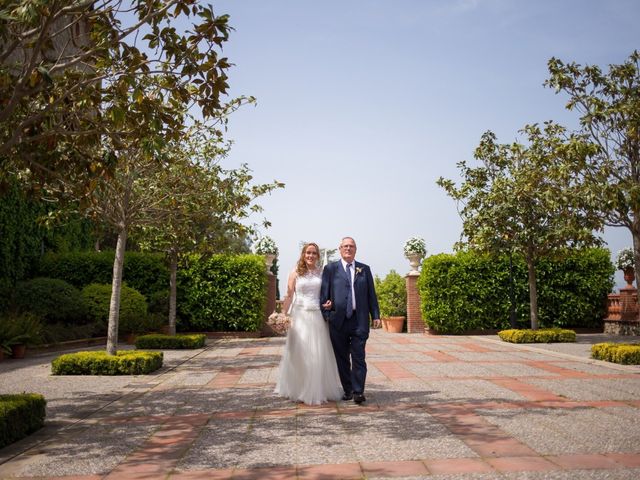
MULTIPOLYGON (((110 284, 91 284, 82 289, 82 296, 87 304, 89 316, 101 325, 109 321, 109 305, 111 303, 110 284)), ((140 292, 126 285, 120 292, 120 314, 118 331, 120 333, 139 333, 144 331, 147 317, 147 301, 140 292)))

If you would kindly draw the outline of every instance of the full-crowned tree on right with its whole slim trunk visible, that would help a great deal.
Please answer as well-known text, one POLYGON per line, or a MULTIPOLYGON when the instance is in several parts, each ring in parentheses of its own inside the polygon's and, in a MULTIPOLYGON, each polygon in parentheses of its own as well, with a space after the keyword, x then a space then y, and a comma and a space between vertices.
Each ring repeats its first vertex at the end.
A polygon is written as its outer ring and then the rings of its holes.
POLYGON ((568 246, 599 242, 596 199, 585 195, 579 173, 593 147, 552 122, 526 126, 528 145, 498 144, 486 132, 476 148, 481 166, 458 164, 464 181, 437 181, 459 206, 463 237, 472 248, 510 249, 527 264, 531 328, 538 328, 536 262, 568 246), (462 206, 462 208, 460 208, 462 206))

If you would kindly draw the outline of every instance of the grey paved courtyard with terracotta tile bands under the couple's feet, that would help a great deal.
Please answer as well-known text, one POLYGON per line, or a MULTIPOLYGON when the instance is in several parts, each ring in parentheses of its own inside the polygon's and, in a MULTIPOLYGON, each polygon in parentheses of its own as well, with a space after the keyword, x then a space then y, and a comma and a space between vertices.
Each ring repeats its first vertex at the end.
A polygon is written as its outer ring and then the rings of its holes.
POLYGON ((602 340, 373 331, 364 406, 276 397, 283 338, 166 351, 148 376, 6 360, 0 392, 48 405, 45 428, 0 450, 0 478, 636 480, 640 367, 590 360, 602 340))

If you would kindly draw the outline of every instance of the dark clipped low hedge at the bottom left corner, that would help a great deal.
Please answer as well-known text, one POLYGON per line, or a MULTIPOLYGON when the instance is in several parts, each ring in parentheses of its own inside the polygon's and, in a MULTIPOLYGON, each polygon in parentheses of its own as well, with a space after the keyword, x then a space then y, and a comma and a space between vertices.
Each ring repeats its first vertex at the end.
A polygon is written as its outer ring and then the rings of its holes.
POLYGON ((0 395, 0 448, 41 428, 46 404, 38 393, 0 395))

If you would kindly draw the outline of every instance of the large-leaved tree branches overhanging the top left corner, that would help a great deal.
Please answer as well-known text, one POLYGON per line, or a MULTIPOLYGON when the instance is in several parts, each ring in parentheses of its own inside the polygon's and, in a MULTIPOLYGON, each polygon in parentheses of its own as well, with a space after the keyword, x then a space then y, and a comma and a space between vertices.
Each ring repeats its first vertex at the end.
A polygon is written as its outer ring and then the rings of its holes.
POLYGON ((182 135, 187 109, 215 115, 230 66, 218 55, 227 20, 196 0, 4 0, 0 180, 20 173, 86 194, 115 169, 105 136, 150 128, 159 134, 144 147, 159 149, 182 135))

